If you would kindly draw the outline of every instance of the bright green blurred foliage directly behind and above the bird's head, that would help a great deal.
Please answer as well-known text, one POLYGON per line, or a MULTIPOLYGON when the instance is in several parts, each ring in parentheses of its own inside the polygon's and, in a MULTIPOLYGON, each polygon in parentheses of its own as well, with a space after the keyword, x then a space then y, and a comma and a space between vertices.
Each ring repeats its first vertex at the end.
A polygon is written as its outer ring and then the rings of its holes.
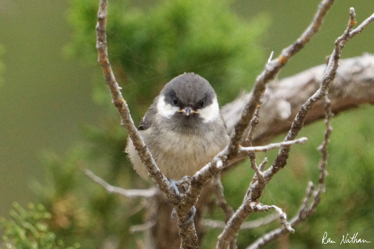
MULTIPOLYGON (((97 4, 73 1, 70 15, 76 32, 68 51, 91 63, 97 57, 93 49, 97 4)), ((165 0, 143 9, 111 1, 108 53, 112 64, 120 66, 114 71, 135 115, 147 110, 165 83, 191 71, 214 86, 222 105, 239 90, 250 90, 262 67, 256 41, 266 26, 263 16, 250 23, 240 20, 227 1, 165 0)), ((107 102, 107 94, 104 98, 107 102)))

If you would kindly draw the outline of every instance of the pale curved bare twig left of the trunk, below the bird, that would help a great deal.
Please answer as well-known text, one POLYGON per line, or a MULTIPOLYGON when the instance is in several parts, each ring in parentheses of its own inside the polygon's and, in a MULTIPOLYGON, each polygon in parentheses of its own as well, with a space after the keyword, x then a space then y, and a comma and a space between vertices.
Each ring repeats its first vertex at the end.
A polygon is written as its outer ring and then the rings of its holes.
POLYGON ((102 178, 98 177, 97 175, 93 174, 92 171, 89 169, 85 169, 85 174, 91 178, 96 183, 100 184, 104 187, 109 193, 116 193, 123 195, 125 197, 152 197, 157 192, 157 188, 153 187, 150 189, 122 189, 120 187, 112 186, 108 184, 106 181, 102 180, 102 178))

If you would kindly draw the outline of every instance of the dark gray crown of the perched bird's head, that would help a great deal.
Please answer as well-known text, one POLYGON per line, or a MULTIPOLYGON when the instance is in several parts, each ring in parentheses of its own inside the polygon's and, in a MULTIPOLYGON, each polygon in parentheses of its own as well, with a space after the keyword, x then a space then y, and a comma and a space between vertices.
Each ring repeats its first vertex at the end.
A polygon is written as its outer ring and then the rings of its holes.
POLYGON ((181 74, 165 85, 161 94, 165 101, 172 103, 176 97, 178 106, 191 106, 198 109, 202 101, 210 105, 215 98, 215 91, 207 80, 194 73, 181 74))

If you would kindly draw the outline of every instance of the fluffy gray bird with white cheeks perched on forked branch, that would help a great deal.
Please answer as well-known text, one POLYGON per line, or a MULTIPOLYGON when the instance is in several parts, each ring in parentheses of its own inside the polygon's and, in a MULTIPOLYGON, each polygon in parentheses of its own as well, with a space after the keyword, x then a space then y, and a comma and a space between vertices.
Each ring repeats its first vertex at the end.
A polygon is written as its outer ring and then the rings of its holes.
MULTIPOLYGON (((192 72, 173 78, 163 87, 138 130, 169 181, 190 178, 229 143, 217 94, 205 78, 192 72)), ((149 179, 131 138, 125 152, 135 171, 149 179)))

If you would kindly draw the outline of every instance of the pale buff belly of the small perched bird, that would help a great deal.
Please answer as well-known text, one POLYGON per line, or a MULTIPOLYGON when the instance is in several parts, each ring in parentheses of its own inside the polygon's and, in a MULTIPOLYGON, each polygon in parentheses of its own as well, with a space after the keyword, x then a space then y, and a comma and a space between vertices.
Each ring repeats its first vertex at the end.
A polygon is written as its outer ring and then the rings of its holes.
MULTIPOLYGON (((225 149, 229 141, 226 133, 217 133, 214 130, 200 136, 176 134, 173 131, 162 134, 152 132, 149 128, 140 133, 161 172, 174 180, 180 180, 185 175, 192 177, 225 149)), ((148 170, 141 162, 130 139, 126 152, 138 174, 144 179, 149 179, 148 170)))

